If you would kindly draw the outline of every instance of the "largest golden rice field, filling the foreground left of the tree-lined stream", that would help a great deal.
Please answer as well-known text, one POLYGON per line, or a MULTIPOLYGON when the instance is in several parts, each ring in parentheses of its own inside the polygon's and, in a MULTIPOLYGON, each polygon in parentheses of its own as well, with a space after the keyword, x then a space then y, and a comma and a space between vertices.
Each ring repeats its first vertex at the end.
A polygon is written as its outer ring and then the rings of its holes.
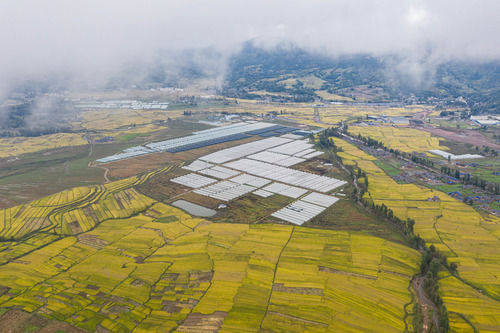
POLYGON ((210 223, 153 203, 1 266, 0 308, 88 331, 401 332, 419 261, 360 233, 210 223))

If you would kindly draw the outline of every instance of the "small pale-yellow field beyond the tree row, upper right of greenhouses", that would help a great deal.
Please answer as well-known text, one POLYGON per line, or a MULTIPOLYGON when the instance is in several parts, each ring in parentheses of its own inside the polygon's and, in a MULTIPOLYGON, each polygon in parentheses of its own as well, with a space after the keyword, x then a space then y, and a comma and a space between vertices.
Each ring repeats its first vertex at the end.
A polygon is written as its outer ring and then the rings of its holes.
POLYGON ((382 142, 386 147, 398 149, 403 152, 426 153, 432 149, 448 150, 448 147, 439 144, 439 138, 429 132, 413 128, 400 128, 392 126, 351 126, 349 132, 354 135, 361 134, 382 142))

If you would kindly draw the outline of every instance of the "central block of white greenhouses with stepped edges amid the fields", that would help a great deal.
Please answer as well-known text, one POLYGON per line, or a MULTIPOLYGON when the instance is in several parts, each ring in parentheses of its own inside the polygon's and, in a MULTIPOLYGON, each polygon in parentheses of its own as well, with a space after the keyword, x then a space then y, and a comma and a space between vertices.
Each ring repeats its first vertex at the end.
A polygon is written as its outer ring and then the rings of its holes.
POLYGON ((324 193, 346 184, 343 180, 289 168, 321 154, 302 136, 285 134, 222 149, 183 167, 221 181, 194 173, 172 181, 195 188, 194 193, 226 202, 250 192, 263 198, 273 195, 293 198, 295 202, 272 216, 303 224, 339 200, 324 193))

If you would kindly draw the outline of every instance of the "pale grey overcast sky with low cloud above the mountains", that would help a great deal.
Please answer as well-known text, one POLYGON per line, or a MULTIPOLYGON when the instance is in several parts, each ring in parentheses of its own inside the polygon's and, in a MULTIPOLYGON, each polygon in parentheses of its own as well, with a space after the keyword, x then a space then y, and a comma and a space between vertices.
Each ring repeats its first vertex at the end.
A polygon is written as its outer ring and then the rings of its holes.
POLYGON ((0 86, 61 70, 92 77, 158 49, 228 54, 249 39, 333 56, 500 59, 499 12, 500 0, 2 0, 0 86))

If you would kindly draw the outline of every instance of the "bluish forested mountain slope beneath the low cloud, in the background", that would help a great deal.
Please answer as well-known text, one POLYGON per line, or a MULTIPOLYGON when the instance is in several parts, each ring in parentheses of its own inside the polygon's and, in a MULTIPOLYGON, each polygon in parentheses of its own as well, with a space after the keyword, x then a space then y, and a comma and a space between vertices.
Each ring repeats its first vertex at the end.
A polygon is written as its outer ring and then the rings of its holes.
POLYGON ((418 73, 406 61, 397 54, 330 57, 290 45, 263 49, 247 43, 230 59, 224 92, 255 98, 252 91, 269 91, 289 93, 296 101, 314 101, 318 98, 315 90, 350 96, 350 89, 364 87, 379 90, 371 102, 402 101, 411 96, 419 102, 462 98, 477 112, 498 112, 500 61, 450 60, 418 73), (308 75, 321 79, 321 86, 283 84, 287 78, 308 75))

